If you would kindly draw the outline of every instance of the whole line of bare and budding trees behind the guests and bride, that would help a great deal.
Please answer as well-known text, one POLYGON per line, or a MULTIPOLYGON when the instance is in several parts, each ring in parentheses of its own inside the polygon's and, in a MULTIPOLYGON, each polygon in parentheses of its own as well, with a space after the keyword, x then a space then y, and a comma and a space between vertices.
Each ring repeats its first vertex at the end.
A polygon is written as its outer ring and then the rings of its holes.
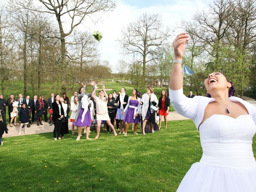
MULTIPOLYGON (((78 30, 87 17, 100 19, 115 6, 112 0, 9 0, 2 4, 2 94, 14 78, 23 80, 24 94, 28 85, 33 94, 40 94, 46 83, 68 92, 92 78, 121 84, 129 80, 135 88, 158 80, 163 86, 170 75, 171 42, 177 32, 165 26, 159 14, 142 14, 122 28, 118 41, 126 57, 115 68, 99 59, 100 42, 92 31, 78 30), (113 69, 118 75, 112 74, 113 69)), ((184 75, 184 86, 204 95, 204 79, 209 72, 220 71, 234 83, 236 96, 256 98, 255 1, 216 0, 208 10, 195 12, 178 26, 190 35, 183 63, 194 72, 184 75)))

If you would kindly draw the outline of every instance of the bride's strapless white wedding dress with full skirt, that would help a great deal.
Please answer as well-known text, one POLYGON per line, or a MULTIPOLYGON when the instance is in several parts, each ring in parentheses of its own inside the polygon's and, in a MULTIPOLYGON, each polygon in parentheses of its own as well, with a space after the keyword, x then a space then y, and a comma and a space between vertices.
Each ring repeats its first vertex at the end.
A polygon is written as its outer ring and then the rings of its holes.
POLYGON ((215 114, 199 131, 202 158, 192 165, 177 192, 256 192, 252 117, 215 114))

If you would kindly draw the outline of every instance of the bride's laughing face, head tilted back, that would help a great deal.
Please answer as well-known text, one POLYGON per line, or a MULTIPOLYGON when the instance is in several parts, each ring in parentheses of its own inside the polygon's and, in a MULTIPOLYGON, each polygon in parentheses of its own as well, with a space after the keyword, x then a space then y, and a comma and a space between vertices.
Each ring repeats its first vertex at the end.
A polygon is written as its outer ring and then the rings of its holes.
POLYGON ((204 85, 207 92, 212 95, 216 90, 223 90, 228 92, 231 83, 227 81, 226 77, 221 72, 213 72, 204 80, 204 85))

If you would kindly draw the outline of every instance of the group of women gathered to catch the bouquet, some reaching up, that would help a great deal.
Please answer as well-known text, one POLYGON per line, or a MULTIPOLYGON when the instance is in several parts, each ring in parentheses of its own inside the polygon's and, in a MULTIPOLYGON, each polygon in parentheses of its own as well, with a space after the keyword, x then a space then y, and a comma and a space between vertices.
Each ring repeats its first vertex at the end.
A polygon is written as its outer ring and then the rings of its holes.
MULTIPOLYGON (((117 136, 114 126, 116 126, 119 134, 127 136, 130 124, 134 124, 134 134, 138 134, 139 123, 141 123, 142 134, 146 134, 146 132, 154 133, 155 130, 159 130, 156 124, 156 112, 160 115, 160 127, 162 116, 164 116, 165 127, 167 128, 166 116, 170 107, 170 99, 166 90, 162 90, 158 100, 151 86, 148 86, 144 95, 140 95, 140 92, 134 89, 132 96, 126 94, 124 87, 121 88, 118 94, 116 90, 107 94, 105 87, 102 86, 102 90, 96 96, 98 86, 94 81, 90 84, 92 85, 92 93, 86 94, 86 86, 82 84, 82 87, 78 92, 74 92, 74 96, 71 98, 70 110, 72 113, 70 122, 72 122, 72 134, 74 134, 75 126, 77 127, 78 136, 76 140, 80 140, 83 128, 86 133, 86 139, 90 140, 90 126, 93 121, 96 121, 97 124, 95 139, 99 138, 102 123, 106 126, 107 132, 110 132, 109 128, 111 128, 114 136, 117 136)), ((61 139, 60 124, 63 113, 61 106, 58 104, 58 95, 55 97, 56 104, 53 107, 53 121, 55 126, 54 140, 57 140, 61 139)))

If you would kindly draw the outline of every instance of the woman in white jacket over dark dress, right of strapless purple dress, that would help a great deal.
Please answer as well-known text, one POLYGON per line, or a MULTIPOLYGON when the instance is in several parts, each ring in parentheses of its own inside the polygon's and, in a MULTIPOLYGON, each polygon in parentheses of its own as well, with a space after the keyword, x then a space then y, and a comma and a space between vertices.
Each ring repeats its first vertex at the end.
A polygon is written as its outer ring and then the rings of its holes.
POLYGON ((142 134, 146 135, 145 126, 147 121, 150 122, 152 133, 154 133, 154 127, 158 131, 158 127, 156 125, 156 110, 158 105, 158 99, 154 94, 154 89, 152 88, 152 86, 147 87, 147 92, 143 94, 140 104, 142 105, 142 134))

